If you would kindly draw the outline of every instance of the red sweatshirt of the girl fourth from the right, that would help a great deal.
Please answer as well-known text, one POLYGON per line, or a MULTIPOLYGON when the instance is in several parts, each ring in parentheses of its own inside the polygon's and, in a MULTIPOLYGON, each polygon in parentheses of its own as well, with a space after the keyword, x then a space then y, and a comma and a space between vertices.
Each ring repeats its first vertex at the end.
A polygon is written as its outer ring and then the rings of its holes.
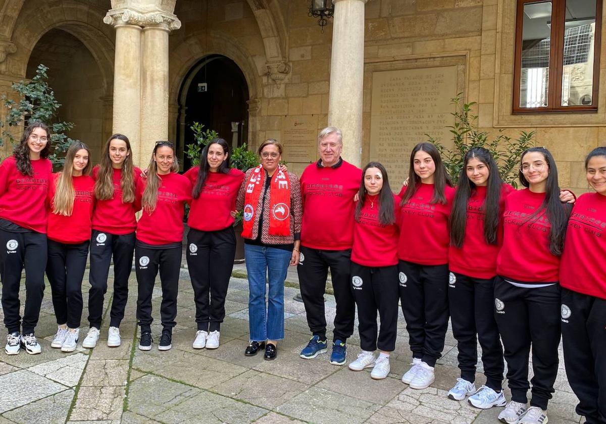
MULTIPOLYGON (((407 204, 401 208, 398 259, 419 265, 448 263, 448 217, 454 198, 454 188, 446 186, 446 204, 430 203, 433 184, 420 184, 407 204)), ((400 196, 404 196, 402 187, 400 196)))

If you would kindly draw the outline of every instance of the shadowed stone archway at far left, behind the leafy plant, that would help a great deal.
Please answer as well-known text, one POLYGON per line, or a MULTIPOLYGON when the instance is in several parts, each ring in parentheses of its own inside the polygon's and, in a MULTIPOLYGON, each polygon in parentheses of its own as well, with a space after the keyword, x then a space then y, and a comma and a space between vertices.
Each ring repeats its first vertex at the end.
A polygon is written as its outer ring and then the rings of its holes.
POLYGON ((45 33, 33 48, 26 78, 35 75, 39 64, 48 67, 48 85, 61 103, 56 118, 75 124, 68 136, 86 143, 91 150, 91 160, 98 162, 104 142, 102 96, 105 87, 95 58, 78 38, 54 28, 45 33))

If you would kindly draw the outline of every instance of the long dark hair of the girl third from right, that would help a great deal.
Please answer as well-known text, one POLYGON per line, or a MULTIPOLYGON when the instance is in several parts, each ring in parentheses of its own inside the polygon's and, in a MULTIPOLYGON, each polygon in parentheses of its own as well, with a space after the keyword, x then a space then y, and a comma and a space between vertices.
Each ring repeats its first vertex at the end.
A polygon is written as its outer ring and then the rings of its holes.
POLYGON ((463 168, 459 174, 456 193, 454 194, 453 209, 450 213, 450 243, 461 248, 465 239, 467 226, 467 204, 476 191, 476 185, 467 177, 467 165, 471 159, 478 159, 488 168, 486 181, 486 199, 484 209, 484 240, 487 244, 497 244, 497 228, 499 226, 499 200, 503 181, 499 176, 499 168, 494 162, 490 151, 484 147, 472 147, 465 153, 463 168))

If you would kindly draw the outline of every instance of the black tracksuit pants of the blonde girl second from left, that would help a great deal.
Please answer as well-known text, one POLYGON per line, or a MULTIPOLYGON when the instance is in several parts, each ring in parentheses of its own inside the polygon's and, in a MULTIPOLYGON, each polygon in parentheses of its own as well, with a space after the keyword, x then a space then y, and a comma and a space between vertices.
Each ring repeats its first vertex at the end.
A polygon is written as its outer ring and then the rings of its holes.
POLYGON ((48 239, 46 276, 50 282, 59 325, 79 328, 82 319, 82 277, 88 257, 88 240, 68 244, 48 239))

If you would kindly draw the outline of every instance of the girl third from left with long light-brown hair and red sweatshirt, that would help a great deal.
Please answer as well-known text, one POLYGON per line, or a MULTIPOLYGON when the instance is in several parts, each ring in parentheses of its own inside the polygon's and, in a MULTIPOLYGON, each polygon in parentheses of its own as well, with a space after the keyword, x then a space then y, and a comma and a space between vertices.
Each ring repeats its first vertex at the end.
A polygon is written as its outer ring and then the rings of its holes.
POLYGON ((141 170, 133 165, 131 153, 128 137, 113 134, 105 143, 101 162, 93 168, 96 204, 90 238, 90 329, 82 342, 84 348, 94 348, 99 340, 103 299, 112 257, 114 290, 107 345, 115 347, 121 344, 119 327, 128 299, 128 277, 135 251, 135 213, 141 209, 141 205, 135 201, 135 187, 141 170))

